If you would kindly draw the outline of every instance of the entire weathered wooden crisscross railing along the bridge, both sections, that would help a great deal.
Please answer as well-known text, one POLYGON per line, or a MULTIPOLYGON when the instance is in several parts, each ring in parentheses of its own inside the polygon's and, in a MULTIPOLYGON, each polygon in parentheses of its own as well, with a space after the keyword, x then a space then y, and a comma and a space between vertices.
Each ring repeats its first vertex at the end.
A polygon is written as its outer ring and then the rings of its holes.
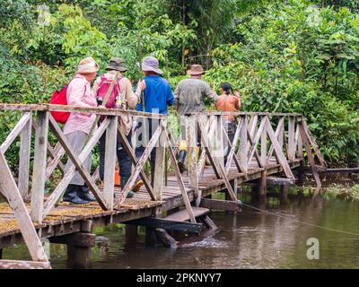
MULTIPOLYGON (((166 183, 167 170, 171 167, 171 172, 180 187, 182 200, 187 208, 190 221, 196 222, 183 177, 178 167, 177 153, 181 136, 179 138, 174 137, 168 126, 168 117, 120 109, 0 103, 0 115, 10 112, 19 113, 21 117, 19 117, 20 119, 13 126, 4 142, 0 143, 0 192, 12 208, 22 231, 22 237, 34 261, 48 262, 35 229, 35 224, 42 222, 57 207, 66 191, 66 187, 68 187, 71 179, 74 178, 76 170, 92 191, 93 196, 96 197, 101 208, 103 210, 113 210, 121 208, 137 178, 142 178, 144 187, 153 201, 162 201, 162 190, 166 183), (51 116, 51 111, 90 113, 97 115, 97 117, 106 116, 106 118, 88 136, 82 152, 76 154, 67 142, 61 126, 51 116), (134 121, 142 119, 148 125, 154 121, 157 123, 153 126, 151 136, 148 135, 144 152, 138 159, 135 147, 138 145, 136 141, 138 141, 137 135, 140 132, 133 128, 133 138, 131 140, 133 144, 131 145, 127 140, 127 135, 122 132, 118 124, 118 119, 123 117, 131 117, 134 121), (95 170, 92 174, 89 173, 83 168, 83 162, 104 133, 106 133, 105 170, 103 188, 101 189, 97 183, 98 170, 95 170), (18 137, 20 137, 20 141, 17 141, 18 137), (122 143, 123 148, 131 159, 133 170, 126 186, 122 188, 119 196, 114 198, 114 175, 118 140, 122 143), (17 166, 16 164, 9 165, 6 160, 6 152, 15 143, 20 144, 17 166), (156 154, 155 177, 152 178, 153 182, 151 182, 144 167, 153 149, 155 149, 156 154), (168 161, 166 161, 166 152, 168 161), (64 161, 66 159, 72 162, 69 169, 65 169, 66 162, 64 161), (49 196, 45 196, 44 191, 47 180, 51 178, 55 170, 59 170, 62 177, 55 184, 49 196), (28 210, 25 203, 30 204, 30 210, 28 210)), ((251 169, 252 159, 258 162, 257 168, 265 171, 271 164, 272 155, 274 154, 277 164, 283 168, 285 175, 288 178, 293 178, 288 161, 293 161, 294 159, 302 161, 303 145, 309 155, 308 159, 313 169, 316 168, 316 165, 311 149, 314 150, 320 164, 325 165, 318 146, 315 144, 308 126, 306 126, 305 120, 300 114, 205 112, 191 114, 184 118, 185 138, 188 143, 189 185, 195 190, 197 204, 201 198, 198 181, 203 175, 207 160, 213 166, 215 176, 223 179, 232 200, 237 200, 228 179, 231 172, 233 172, 232 163, 234 163, 238 173, 247 176, 251 169), (234 117, 236 122, 233 141, 229 140, 227 130, 223 125, 223 118, 227 116, 234 117), (198 140, 201 143, 201 152, 197 158, 198 140), (223 161, 225 155, 224 145, 227 146, 227 152, 225 152, 227 162, 225 165, 223 161)), ((148 127, 144 125, 142 132, 147 132, 148 127)))

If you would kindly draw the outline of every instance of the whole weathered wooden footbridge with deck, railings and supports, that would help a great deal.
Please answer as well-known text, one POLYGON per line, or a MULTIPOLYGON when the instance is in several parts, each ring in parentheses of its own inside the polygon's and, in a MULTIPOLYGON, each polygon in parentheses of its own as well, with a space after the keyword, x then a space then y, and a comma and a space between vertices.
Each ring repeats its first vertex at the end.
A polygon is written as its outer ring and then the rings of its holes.
MULTIPOLYGON (((147 243, 161 240, 171 246, 175 244, 169 234, 173 230, 196 234, 203 229, 214 230, 215 223, 208 217, 210 210, 239 212, 237 187, 244 182, 256 181, 259 196, 265 196, 267 184, 293 185, 293 170, 306 161, 317 187, 320 187, 318 168, 326 169, 326 162, 301 114, 188 115, 185 117, 188 169, 183 174, 177 165, 180 137, 170 130, 167 116, 120 109, 16 104, 0 104, 0 115, 17 119, 4 143, 0 143, 0 194, 5 199, 0 204, 0 259, 2 249, 22 242, 32 259, 0 260, 0 268, 50 268, 50 258, 41 242, 44 239, 66 244, 74 265, 86 265, 94 245, 92 229, 117 222, 146 226, 147 243), (75 154, 51 111, 107 117, 85 143, 83 151, 75 154), (236 122, 232 143, 223 126, 223 117, 229 115, 236 122), (151 118, 159 123, 138 160, 118 126, 118 117, 151 118), (89 174, 82 165, 105 132, 105 178, 100 187, 98 170, 89 174), (199 154, 197 136, 201 143, 199 154), (114 178, 118 137, 133 161, 132 175, 123 190, 115 187, 114 178), (144 166, 153 149, 156 164, 152 185, 144 166), (6 158, 9 150, 19 151, 17 165, 13 161, 9 165, 6 158), (225 151, 228 153, 224 165, 225 151), (67 159, 74 165, 65 171, 67 159), (76 170, 96 197, 96 203, 61 202, 76 170), (133 198, 127 198, 138 177, 143 179, 144 187, 133 198), (52 187, 48 187, 49 181, 52 187), (217 192, 225 192, 226 200, 212 199, 217 192)), ((133 135, 135 143, 136 133, 133 135)))

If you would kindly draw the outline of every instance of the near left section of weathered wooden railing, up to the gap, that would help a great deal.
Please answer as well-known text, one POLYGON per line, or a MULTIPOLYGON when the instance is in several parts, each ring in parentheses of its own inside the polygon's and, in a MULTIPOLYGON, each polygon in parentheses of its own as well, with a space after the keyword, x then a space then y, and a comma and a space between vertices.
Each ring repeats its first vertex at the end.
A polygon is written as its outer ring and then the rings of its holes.
MULTIPOLYGON (((72 178, 74 178, 76 170, 80 173, 103 210, 121 208, 121 204, 126 200, 127 193, 134 186, 138 177, 143 179, 144 187, 153 201, 162 200, 165 150, 169 152, 171 161, 176 162, 176 158, 171 150, 171 135, 167 130, 167 119, 165 116, 119 109, 17 104, 0 104, 0 113, 2 116, 4 114, 8 116, 11 113, 10 117, 13 117, 14 113, 21 113, 17 117, 20 119, 13 126, 9 135, 7 135, 3 143, 0 143, 0 193, 5 197, 13 211, 13 215, 17 219, 22 232, 22 237, 34 261, 48 264, 48 258, 41 246, 35 225, 42 222, 57 207, 66 191, 66 187, 68 187, 72 178), (93 133, 90 132, 82 151, 77 154, 74 153, 71 144, 68 143, 61 127, 51 116, 51 111, 91 113, 97 115, 97 117, 106 117, 93 130, 93 133), (132 117, 137 120, 138 118, 151 119, 158 123, 152 136, 149 136, 144 152, 138 160, 135 149, 127 141, 127 135, 122 132, 118 125, 118 119, 124 117, 132 117), (83 168, 83 162, 95 148, 101 135, 104 133, 106 133, 105 170, 103 189, 101 190, 96 183, 98 170, 90 174, 83 168), (6 152, 9 151, 12 145, 19 143, 17 141, 18 137, 20 137, 19 164, 13 164, 12 161, 12 165, 10 165, 7 161, 8 159, 6 159, 6 152), (122 189, 120 196, 114 198, 118 139, 122 142, 124 149, 129 155, 134 170, 127 181, 127 185, 122 189), (50 143, 56 144, 51 145, 50 143), (154 178, 152 185, 144 172, 144 164, 153 149, 156 150, 156 178, 154 178), (65 162, 63 162, 66 158, 72 163, 68 169, 65 169, 65 162), (62 177, 56 183, 56 187, 50 195, 45 196, 47 180, 57 169, 62 173, 62 177), (30 204, 29 209, 26 204, 30 204)), ((145 129, 143 132, 145 132, 145 129)), ((13 153, 11 153, 11 156, 13 156, 13 153)), ((178 178, 183 202, 188 208, 188 213, 191 215, 191 221, 195 222, 180 171, 177 164, 173 166, 176 178, 178 178)))

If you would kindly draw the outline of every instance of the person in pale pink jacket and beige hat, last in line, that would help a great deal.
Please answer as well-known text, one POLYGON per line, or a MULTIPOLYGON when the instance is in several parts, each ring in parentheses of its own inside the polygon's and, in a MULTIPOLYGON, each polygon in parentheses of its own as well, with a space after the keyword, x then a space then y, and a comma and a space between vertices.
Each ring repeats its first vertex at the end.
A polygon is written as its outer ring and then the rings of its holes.
MULTIPOLYGON (((97 107, 96 95, 91 89, 91 83, 99 71, 99 65, 92 57, 80 61, 74 79, 67 87, 66 97, 69 106, 97 107)), ((64 126, 64 134, 75 154, 79 155, 83 149, 86 137, 95 121, 95 114, 71 113, 64 126)), ((83 162, 83 168, 91 171, 90 153, 83 162)), ((72 161, 67 161, 65 171, 72 167, 72 161)), ((76 171, 64 195, 64 201, 72 204, 88 204, 96 199, 89 193, 80 173, 76 171)))

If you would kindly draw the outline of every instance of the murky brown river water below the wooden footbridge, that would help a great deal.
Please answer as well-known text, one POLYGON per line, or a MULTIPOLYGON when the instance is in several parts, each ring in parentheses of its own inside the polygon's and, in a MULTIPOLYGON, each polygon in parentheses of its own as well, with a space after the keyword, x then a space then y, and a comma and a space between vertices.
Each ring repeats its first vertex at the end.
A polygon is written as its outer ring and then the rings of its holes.
MULTIPOLYGON (((359 203, 343 199, 311 200, 289 196, 266 204, 243 202, 242 213, 213 212, 217 232, 205 239, 191 236, 177 249, 144 247, 144 229, 136 242, 122 225, 96 230, 92 268, 358 268, 359 235, 321 229, 309 224, 359 234, 359 203), (294 220, 294 221, 293 221, 294 220), (296 222, 300 221, 300 222, 296 222), (302 223, 306 222, 306 223, 302 223), (319 259, 308 259, 308 239, 318 239, 319 259)), ((53 268, 66 268, 66 246, 51 245, 53 268)), ((4 258, 29 257, 26 248, 5 249, 4 258)))

